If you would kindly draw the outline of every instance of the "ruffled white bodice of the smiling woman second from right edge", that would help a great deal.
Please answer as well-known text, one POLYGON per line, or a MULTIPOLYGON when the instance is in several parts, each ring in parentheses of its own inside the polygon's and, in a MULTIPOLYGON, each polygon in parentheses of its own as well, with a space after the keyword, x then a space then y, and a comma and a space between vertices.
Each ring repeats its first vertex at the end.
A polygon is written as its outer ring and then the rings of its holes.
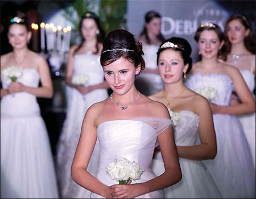
POLYGON ((217 97, 216 99, 211 100, 211 102, 220 106, 228 106, 230 104, 233 81, 226 74, 189 74, 185 81, 185 85, 193 91, 211 87, 216 90, 217 97))

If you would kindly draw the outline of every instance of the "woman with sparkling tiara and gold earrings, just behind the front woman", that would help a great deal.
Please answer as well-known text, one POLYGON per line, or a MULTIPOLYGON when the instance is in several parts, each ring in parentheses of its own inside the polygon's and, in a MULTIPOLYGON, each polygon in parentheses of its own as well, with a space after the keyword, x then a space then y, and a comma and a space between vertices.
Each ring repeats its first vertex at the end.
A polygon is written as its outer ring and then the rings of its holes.
MULTIPOLYGON (((162 102, 174 121, 174 135, 182 179, 164 189, 165 198, 221 198, 208 169, 200 160, 214 159, 217 153, 212 111, 207 99, 183 84, 191 70, 191 45, 183 38, 166 40, 157 53, 157 63, 164 89, 149 98, 162 102), (196 144, 199 132, 200 144, 196 144)), ((151 164, 159 176, 164 170, 161 153, 151 164)))

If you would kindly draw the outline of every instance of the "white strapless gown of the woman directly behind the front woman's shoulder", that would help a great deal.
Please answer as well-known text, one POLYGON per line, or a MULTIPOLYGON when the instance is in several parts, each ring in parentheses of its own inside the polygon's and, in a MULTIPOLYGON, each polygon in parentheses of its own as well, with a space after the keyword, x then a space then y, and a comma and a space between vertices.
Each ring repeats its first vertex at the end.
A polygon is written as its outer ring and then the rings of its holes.
MULTIPOLYGON (((189 110, 182 110, 179 125, 174 127, 176 146, 196 145, 200 118, 189 110)), ((208 169, 201 161, 179 158, 182 179, 164 189, 164 198, 222 198, 208 169)), ((151 164, 152 171, 160 176, 164 171, 161 152, 157 152, 151 164)))

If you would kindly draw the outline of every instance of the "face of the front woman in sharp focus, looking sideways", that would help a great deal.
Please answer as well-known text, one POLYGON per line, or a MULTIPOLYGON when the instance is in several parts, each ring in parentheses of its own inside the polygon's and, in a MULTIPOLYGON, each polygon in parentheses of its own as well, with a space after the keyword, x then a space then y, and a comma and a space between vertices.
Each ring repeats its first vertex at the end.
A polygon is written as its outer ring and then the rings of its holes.
POLYGON ((118 95, 129 92, 134 85, 135 74, 139 74, 141 67, 134 67, 130 61, 119 58, 112 64, 103 67, 106 82, 110 88, 118 95))

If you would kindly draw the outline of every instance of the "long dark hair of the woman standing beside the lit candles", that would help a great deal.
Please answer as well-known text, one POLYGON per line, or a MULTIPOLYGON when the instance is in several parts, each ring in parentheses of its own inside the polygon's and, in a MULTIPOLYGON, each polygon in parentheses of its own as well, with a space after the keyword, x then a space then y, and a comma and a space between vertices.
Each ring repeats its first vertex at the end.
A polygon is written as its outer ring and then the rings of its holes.
MULTIPOLYGON (((92 12, 90 12, 90 11, 84 13, 84 14, 82 15, 82 18, 81 18, 80 23, 79 23, 79 30, 80 30, 81 36, 82 36, 82 32, 81 32, 82 20, 84 20, 84 19, 93 19, 94 22, 96 22, 96 24, 97 24, 97 28, 98 28, 98 30, 99 30, 99 34, 97 34, 97 43, 96 43, 96 46, 95 46, 95 47, 96 47, 96 52, 94 52, 94 54, 97 54, 98 51, 99 51, 99 49, 98 49, 98 43, 99 43, 99 42, 102 42, 103 39, 104 39, 104 31, 102 30, 102 28, 101 28, 101 26, 100 26, 100 20, 98 19, 98 16, 97 16, 95 13, 92 13, 92 12)), ((84 39, 84 37, 82 36, 82 41, 81 41, 81 43, 79 44, 79 47, 78 47, 78 48, 76 49, 76 51, 74 52, 74 55, 75 55, 75 53, 76 53, 77 51, 79 51, 79 49, 82 47, 82 44, 84 44, 84 42, 85 42, 85 39, 84 39)))

